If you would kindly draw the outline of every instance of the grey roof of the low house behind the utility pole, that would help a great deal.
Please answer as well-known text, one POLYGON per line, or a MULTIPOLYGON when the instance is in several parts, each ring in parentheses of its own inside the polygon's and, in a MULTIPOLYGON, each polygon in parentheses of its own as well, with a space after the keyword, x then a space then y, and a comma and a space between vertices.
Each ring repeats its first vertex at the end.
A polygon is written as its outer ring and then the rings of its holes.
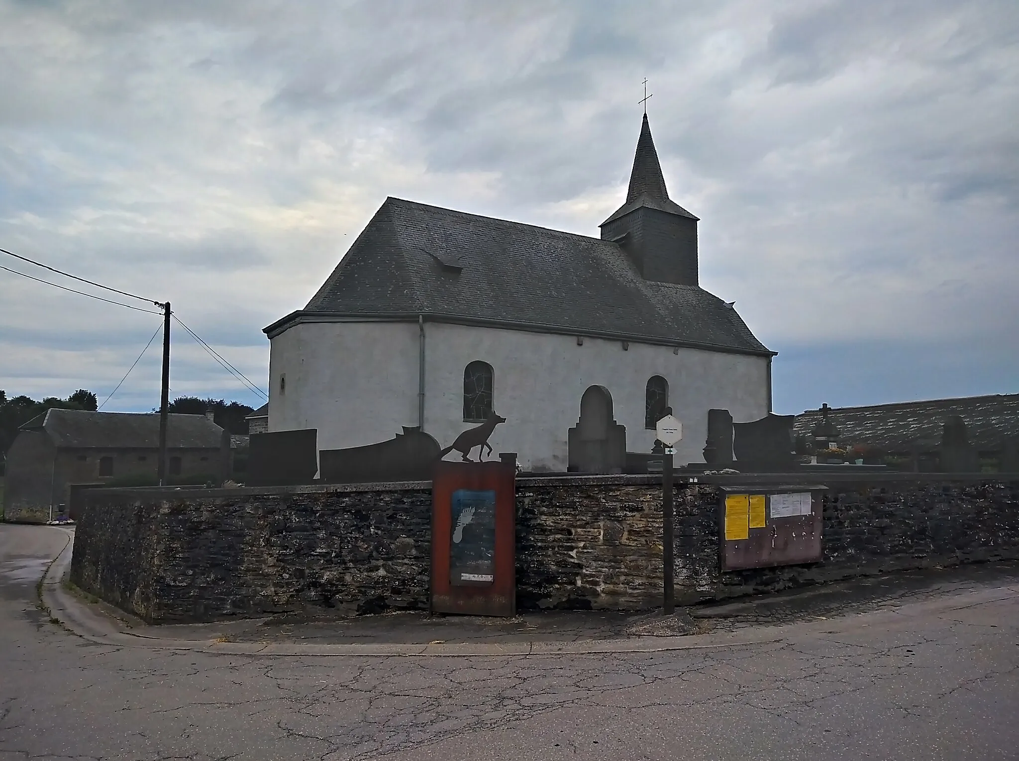
MULTIPOLYGON (((20 427, 42 430, 55 446, 73 448, 155 449, 159 447, 156 413, 92 413, 47 410, 20 427)), ((166 445, 171 449, 218 449, 223 429, 204 415, 168 415, 166 445)))

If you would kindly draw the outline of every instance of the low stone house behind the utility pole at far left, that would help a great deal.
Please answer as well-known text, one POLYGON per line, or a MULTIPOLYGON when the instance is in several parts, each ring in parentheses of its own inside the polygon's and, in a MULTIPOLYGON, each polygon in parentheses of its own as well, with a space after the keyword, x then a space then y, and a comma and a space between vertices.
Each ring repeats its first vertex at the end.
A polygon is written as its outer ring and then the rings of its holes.
MULTIPOLYGON (((158 414, 48 410, 20 427, 7 452, 4 517, 45 523, 73 513, 81 487, 154 483, 158 460, 158 414)), ((219 483, 229 473, 229 433, 202 415, 168 416, 171 483, 219 483)))

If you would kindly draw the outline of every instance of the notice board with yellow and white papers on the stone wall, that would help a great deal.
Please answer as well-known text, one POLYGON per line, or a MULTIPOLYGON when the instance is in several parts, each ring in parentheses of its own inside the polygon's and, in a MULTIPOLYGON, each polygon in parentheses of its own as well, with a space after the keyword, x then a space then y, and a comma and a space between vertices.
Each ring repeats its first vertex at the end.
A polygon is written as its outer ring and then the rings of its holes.
POLYGON ((818 562, 823 490, 798 485, 723 488, 718 527, 721 569, 818 562))

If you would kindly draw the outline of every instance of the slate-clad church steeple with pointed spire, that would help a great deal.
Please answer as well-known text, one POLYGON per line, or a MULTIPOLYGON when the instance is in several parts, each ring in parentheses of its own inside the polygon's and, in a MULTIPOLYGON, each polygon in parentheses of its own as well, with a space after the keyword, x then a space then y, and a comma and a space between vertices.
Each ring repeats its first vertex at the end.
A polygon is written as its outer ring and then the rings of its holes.
POLYGON ((601 223, 601 238, 619 243, 645 280, 697 285, 697 221, 668 198, 645 113, 626 203, 601 223))

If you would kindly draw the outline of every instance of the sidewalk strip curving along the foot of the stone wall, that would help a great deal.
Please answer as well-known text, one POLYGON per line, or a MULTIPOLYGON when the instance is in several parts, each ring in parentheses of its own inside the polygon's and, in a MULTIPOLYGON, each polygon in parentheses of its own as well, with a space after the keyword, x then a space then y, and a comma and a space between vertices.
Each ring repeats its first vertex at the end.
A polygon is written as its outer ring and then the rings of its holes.
POLYGON ((776 642, 835 619, 895 616, 904 606, 951 608, 963 599, 1019 594, 1019 562, 871 577, 660 611, 529 611, 513 618, 408 611, 356 617, 276 615, 148 626, 66 584, 73 534, 47 570, 42 599, 53 619, 92 642, 224 655, 506 656, 660 652, 776 642))

